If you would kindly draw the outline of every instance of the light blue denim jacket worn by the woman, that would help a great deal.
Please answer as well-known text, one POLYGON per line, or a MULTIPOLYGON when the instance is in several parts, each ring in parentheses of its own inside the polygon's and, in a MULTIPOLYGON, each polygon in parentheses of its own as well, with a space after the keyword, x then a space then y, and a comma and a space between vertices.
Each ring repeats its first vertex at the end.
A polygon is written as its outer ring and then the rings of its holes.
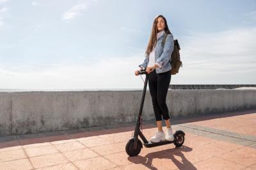
MULTIPOLYGON (((162 45, 163 39, 164 39, 164 33, 162 36, 160 36, 157 39, 156 47, 155 47, 155 61, 159 65, 159 68, 156 68, 156 73, 164 73, 168 72, 172 69, 172 66, 170 64, 171 54, 173 52, 174 48, 174 42, 173 42, 173 35, 168 34, 166 41, 164 43, 164 47, 162 45)), ((143 63, 139 65, 140 68, 147 68, 148 65, 148 55, 145 57, 143 63)))

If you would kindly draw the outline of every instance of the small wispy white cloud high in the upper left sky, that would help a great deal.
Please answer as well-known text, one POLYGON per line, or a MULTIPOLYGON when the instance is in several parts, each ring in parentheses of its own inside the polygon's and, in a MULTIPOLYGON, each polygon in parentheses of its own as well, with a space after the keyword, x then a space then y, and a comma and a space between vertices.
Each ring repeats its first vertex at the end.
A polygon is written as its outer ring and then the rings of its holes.
POLYGON ((77 4, 77 5, 73 6, 70 10, 65 12, 62 15, 62 19, 63 20, 74 19, 75 17, 77 17, 77 15, 81 15, 81 12, 83 10, 86 10, 86 8, 87 8, 87 6, 85 3, 77 4))

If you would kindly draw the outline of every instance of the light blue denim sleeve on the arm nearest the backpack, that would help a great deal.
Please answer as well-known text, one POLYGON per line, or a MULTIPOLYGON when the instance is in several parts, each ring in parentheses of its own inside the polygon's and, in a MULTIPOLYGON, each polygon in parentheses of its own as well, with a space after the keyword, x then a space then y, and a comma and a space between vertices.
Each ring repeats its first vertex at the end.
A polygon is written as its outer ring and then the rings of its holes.
POLYGON ((173 48, 174 48, 173 35, 170 34, 166 37, 163 53, 156 60, 156 63, 158 64, 159 68, 162 68, 162 66, 166 65, 170 61, 173 48))

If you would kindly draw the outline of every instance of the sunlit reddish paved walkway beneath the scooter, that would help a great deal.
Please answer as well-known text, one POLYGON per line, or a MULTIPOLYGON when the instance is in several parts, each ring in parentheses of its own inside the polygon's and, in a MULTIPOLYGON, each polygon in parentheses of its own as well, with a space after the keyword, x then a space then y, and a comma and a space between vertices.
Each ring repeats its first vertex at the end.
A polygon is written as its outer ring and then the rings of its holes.
MULTIPOLYGON (((0 169, 256 169, 256 111, 174 120, 184 146, 128 157, 134 123, 0 137, 0 169)), ((150 137, 154 123, 143 124, 150 137)))

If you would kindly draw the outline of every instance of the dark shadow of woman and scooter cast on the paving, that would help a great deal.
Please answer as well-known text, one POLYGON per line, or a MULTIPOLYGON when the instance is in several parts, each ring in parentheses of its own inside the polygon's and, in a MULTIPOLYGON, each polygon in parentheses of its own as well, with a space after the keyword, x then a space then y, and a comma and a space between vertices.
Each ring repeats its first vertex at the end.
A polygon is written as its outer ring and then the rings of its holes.
POLYGON ((188 151, 192 151, 192 148, 189 148, 187 146, 181 146, 179 148, 148 153, 147 155, 145 155, 145 157, 141 157, 140 155, 136 157, 128 157, 128 160, 133 162, 134 164, 143 164, 149 169, 157 170, 157 168, 152 165, 152 160, 154 158, 167 158, 170 159, 170 161, 172 161, 179 169, 188 169, 189 167, 189 169, 195 170, 196 167, 193 166, 193 164, 191 164, 191 162, 189 162, 189 160, 182 153, 188 151), (177 160, 174 156, 180 157, 181 161, 177 160))

